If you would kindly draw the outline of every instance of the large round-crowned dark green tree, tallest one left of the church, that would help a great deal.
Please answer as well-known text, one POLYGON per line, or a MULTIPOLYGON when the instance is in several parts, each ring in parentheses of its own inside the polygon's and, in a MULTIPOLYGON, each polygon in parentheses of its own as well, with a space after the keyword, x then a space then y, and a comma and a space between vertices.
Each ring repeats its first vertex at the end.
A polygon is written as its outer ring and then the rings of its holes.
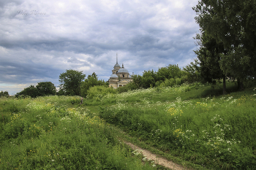
POLYGON ((66 70, 66 72, 61 73, 59 76, 59 82, 61 83, 59 87, 64 91, 65 95, 80 96, 80 85, 85 77, 86 74, 83 74, 83 71, 66 70))

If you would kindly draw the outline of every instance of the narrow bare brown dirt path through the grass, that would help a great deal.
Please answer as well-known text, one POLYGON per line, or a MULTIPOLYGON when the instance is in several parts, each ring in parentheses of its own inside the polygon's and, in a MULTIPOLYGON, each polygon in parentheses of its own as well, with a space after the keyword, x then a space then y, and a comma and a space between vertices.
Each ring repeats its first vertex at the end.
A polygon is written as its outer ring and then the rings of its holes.
POLYGON ((181 165, 178 165, 177 163, 174 163, 173 161, 168 161, 166 158, 159 157, 158 155, 155 155, 154 153, 149 152, 148 150, 143 150, 142 148, 130 143, 130 142, 125 142, 125 144, 129 145, 132 150, 142 150, 142 154, 145 155, 148 159, 154 160, 155 163, 165 166, 168 169, 173 169, 173 170, 184 170, 184 168, 181 165))

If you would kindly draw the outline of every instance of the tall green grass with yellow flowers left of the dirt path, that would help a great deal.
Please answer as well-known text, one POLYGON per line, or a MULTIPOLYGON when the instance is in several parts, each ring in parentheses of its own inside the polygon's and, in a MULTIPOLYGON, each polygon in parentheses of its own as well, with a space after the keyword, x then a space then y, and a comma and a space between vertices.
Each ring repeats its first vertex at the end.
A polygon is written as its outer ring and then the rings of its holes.
POLYGON ((79 102, 0 98, 0 169, 153 169, 79 102))

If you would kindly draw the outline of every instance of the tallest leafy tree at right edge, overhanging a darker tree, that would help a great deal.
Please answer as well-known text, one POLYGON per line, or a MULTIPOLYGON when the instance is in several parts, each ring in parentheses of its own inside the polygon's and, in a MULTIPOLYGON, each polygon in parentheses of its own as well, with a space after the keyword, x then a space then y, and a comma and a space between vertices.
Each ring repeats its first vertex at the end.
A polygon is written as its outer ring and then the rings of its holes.
MULTIPOLYGON (((201 31, 222 42, 227 54, 220 54, 220 67, 238 82, 256 75, 256 1, 200 0, 196 22, 201 31)), ((242 83, 238 83, 243 89, 242 83)))

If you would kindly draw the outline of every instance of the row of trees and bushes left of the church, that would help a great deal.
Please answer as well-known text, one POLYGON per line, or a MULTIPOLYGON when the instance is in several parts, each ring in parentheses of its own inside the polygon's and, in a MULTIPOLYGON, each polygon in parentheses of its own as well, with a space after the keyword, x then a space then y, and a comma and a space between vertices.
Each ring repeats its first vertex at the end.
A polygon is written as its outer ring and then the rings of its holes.
MULTIPOLYGON (((24 90, 16 93, 15 97, 25 98, 29 96, 36 98, 38 96, 50 95, 86 97, 89 94, 89 88, 97 85, 108 88, 108 82, 98 80, 97 74, 93 73, 86 79, 86 74, 72 69, 66 70, 66 72, 60 74, 59 82, 59 90, 56 89, 56 86, 52 82, 38 82, 36 86, 30 85, 28 88, 24 88, 24 90)), ((111 89, 108 88, 108 90, 111 89)), ((8 92, 1 93, 6 94, 8 92)))

